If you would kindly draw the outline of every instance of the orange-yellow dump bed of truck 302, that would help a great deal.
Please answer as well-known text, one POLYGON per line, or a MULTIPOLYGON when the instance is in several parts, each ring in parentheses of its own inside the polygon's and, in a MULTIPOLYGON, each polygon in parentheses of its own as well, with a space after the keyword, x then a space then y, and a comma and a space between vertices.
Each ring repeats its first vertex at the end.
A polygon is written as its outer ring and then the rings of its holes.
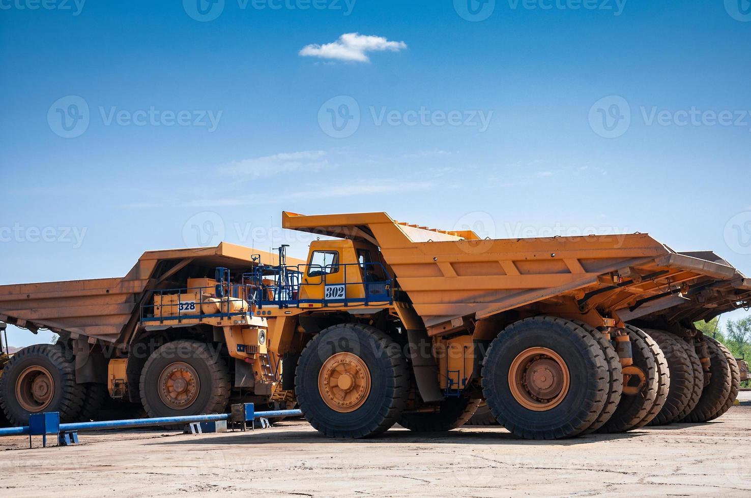
POLYGON ((664 293, 728 280, 734 269, 677 254, 647 234, 480 239, 471 231, 430 229, 383 212, 282 214, 285 228, 381 248, 415 311, 430 328, 477 320, 535 303, 576 299, 581 307, 639 308, 664 293))

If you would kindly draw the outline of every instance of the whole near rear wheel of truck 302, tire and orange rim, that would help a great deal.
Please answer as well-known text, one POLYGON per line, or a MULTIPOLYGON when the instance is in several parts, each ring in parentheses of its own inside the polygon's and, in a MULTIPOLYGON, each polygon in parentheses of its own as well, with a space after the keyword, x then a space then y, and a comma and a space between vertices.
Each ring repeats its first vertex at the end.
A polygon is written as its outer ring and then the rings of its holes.
POLYGON ((556 317, 508 326, 490 343, 482 368, 491 413, 526 439, 581 434, 605 409, 611 388, 608 359, 596 338, 556 317))

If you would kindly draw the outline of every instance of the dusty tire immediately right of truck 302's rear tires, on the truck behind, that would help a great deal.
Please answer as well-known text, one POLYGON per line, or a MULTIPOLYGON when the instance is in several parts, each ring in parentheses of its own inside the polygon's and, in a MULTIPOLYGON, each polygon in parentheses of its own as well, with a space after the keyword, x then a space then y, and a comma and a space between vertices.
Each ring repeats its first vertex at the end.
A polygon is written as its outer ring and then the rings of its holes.
POLYGON ((686 405, 689 404, 694 390, 694 371, 689 355, 681 345, 682 339, 659 330, 644 329, 644 332, 647 332, 657 342, 662 353, 665 353, 665 359, 668 360, 668 370, 670 371, 668 398, 665 400, 662 410, 657 413, 649 425, 667 425, 676 422, 678 416, 683 413, 686 405))

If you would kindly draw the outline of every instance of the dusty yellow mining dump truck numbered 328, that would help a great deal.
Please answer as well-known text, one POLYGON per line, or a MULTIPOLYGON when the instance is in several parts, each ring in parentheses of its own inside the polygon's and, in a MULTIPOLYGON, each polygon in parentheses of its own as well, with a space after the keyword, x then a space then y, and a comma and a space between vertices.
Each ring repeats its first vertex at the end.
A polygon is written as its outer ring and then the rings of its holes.
POLYGON ((142 403, 149 416, 223 412, 231 400, 285 403, 281 360, 264 347, 266 320, 249 314, 240 286, 216 294, 217 267, 241 274, 275 257, 222 243, 148 251, 123 278, 0 286, 0 321, 60 335, 0 359, 5 415, 26 425, 29 413, 59 411, 73 422, 96 416, 107 396, 142 403), (142 321, 144 311, 178 320, 142 321), (199 311, 201 320, 181 319, 199 311), (225 326, 238 320, 255 335, 232 335, 225 326), (235 342, 246 353, 230 352, 235 342))

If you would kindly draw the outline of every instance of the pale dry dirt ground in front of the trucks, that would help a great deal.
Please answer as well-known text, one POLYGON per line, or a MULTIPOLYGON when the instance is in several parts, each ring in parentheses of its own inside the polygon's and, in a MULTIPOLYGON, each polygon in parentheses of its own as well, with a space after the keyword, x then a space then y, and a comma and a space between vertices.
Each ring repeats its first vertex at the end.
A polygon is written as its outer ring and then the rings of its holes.
POLYGON ((5 437, 0 495, 749 496, 751 392, 741 395, 710 424, 553 442, 502 428, 339 441, 297 421, 201 436, 82 433, 68 448, 5 437))

